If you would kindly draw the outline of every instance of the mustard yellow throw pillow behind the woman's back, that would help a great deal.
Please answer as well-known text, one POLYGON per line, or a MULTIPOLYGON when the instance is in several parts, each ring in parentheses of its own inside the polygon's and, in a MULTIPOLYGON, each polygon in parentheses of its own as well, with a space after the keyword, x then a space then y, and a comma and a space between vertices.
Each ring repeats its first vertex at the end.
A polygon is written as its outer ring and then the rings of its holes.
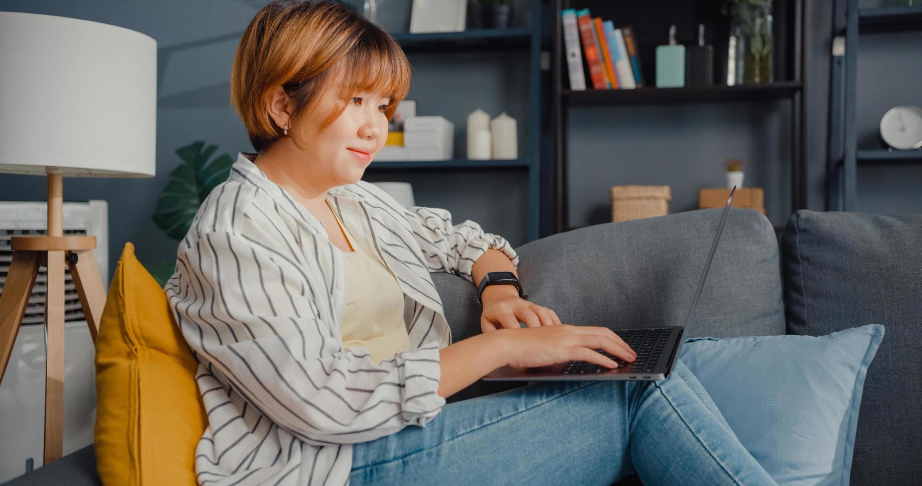
POLYGON ((195 445, 207 425, 197 367, 163 289, 125 243, 96 340, 103 484, 195 484, 195 445))

